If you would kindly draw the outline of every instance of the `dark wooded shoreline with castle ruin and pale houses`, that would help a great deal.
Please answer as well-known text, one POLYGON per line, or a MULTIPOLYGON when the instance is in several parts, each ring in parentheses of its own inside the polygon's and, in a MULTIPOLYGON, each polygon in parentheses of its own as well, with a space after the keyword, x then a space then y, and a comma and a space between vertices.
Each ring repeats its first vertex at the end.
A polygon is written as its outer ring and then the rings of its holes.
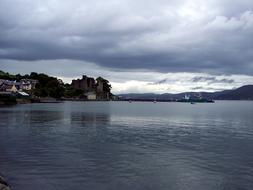
POLYGON ((83 75, 71 84, 64 84, 61 79, 43 73, 11 75, 0 71, 0 104, 112 99, 117 97, 111 93, 110 82, 102 77, 83 75))

